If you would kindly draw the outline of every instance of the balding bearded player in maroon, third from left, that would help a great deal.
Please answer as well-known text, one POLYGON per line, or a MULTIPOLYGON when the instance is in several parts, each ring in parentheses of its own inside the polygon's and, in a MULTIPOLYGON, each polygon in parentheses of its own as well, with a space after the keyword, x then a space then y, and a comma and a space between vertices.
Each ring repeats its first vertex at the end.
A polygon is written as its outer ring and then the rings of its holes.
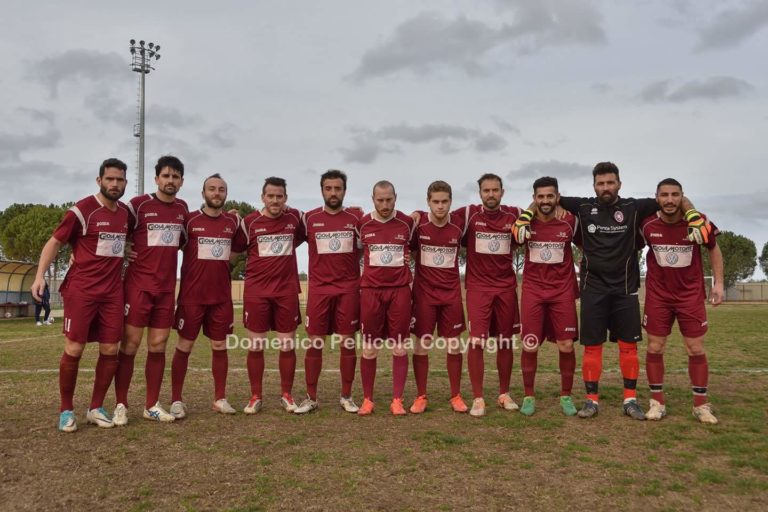
POLYGON ((182 391, 189 354, 201 328, 211 341, 213 410, 235 414, 226 395, 229 369, 226 338, 232 334, 234 325, 229 261, 232 253, 242 252, 245 245, 236 237, 240 219, 224 211, 227 183, 219 174, 203 182, 203 200, 203 207, 188 213, 184 222, 186 243, 175 321, 179 339, 171 362, 170 413, 177 420, 187 415, 182 391))

